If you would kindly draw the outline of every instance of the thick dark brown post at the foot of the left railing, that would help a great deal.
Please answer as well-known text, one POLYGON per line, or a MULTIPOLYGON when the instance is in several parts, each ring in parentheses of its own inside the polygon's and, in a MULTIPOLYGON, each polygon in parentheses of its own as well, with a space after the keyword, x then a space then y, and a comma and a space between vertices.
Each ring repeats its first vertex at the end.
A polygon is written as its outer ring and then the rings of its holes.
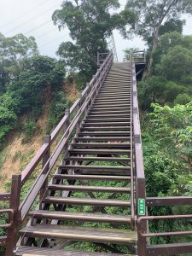
POLYGON ((15 211, 14 225, 9 228, 7 233, 7 246, 5 256, 14 256, 17 242, 17 233, 20 225, 20 189, 21 189, 21 175, 13 175, 11 183, 10 195, 10 209, 15 211))

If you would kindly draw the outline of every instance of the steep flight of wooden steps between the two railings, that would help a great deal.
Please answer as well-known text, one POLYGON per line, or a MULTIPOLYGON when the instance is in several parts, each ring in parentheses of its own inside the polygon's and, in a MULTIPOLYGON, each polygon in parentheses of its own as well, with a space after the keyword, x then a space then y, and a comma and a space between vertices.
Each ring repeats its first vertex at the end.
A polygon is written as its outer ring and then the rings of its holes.
POLYGON ((15 255, 136 255, 131 104, 131 65, 113 63, 15 255))

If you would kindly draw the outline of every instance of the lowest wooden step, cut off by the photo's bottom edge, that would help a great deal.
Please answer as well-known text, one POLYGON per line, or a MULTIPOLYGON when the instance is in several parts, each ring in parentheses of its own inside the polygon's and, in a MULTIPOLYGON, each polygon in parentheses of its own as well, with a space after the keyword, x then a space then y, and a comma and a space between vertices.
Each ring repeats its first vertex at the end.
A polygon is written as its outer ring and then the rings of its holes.
POLYGON ((79 251, 64 251, 61 249, 50 249, 43 247, 18 247, 15 256, 41 255, 41 256, 129 256, 128 254, 116 253, 90 253, 79 251))

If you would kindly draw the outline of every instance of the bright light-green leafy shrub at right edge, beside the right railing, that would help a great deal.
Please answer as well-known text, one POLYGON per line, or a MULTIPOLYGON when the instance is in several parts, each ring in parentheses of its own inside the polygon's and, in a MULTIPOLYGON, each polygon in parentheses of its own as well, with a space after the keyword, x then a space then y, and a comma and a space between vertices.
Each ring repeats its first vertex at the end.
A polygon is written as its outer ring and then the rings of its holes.
MULTIPOLYGON (((160 107, 153 104, 153 123, 156 126, 155 134, 161 140, 162 134, 166 135, 166 141, 181 154, 183 160, 190 162, 192 155, 192 102, 186 105, 160 107)), ((164 138, 164 140, 165 140, 164 138)))

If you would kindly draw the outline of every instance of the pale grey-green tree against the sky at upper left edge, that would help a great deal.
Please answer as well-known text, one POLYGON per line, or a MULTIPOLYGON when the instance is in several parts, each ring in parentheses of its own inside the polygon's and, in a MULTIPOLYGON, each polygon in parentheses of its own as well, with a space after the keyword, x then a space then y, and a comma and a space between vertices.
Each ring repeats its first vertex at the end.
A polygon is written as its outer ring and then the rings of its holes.
POLYGON ((18 79, 25 69, 26 58, 38 55, 35 38, 26 38, 22 34, 5 38, 0 33, 0 94, 5 90, 5 84, 18 79))

